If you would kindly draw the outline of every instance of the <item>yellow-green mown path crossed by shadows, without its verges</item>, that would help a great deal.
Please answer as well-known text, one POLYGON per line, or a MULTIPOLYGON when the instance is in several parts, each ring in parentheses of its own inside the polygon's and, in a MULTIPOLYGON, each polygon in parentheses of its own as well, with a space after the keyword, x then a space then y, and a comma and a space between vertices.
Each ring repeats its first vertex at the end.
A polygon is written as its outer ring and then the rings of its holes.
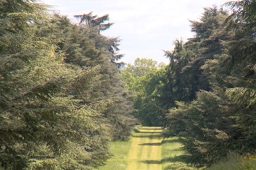
POLYGON ((141 127, 133 135, 126 170, 162 170, 160 127, 141 127))

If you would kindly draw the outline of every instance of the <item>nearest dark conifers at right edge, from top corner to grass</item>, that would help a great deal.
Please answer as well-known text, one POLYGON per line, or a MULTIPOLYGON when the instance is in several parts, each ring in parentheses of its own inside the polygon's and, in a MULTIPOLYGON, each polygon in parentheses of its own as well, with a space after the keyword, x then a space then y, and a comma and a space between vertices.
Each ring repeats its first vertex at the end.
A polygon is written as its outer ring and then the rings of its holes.
MULTIPOLYGON (((196 36, 183 45, 198 45, 189 49, 199 54, 200 64, 189 58, 179 78, 187 71, 192 71, 189 77, 198 74, 201 68, 211 91, 199 91, 192 102, 176 102, 177 108, 166 116, 166 135, 182 137, 184 156, 193 164, 210 165, 230 150, 256 150, 256 3, 243 0, 229 5, 233 14, 226 18, 224 11, 207 8, 201 22, 192 23, 196 36)), ((189 81, 194 84, 198 79, 189 81)), ((178 99, 182 100, 186 101, 178 99)))

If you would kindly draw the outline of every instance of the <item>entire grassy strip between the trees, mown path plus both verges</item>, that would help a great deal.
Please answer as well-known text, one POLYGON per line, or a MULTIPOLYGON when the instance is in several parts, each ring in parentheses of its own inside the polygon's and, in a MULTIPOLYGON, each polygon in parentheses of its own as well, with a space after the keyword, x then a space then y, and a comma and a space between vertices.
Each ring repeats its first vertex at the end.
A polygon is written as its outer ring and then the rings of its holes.
POLYGON ((177 138, 163 139, 162 131, 161 127, 138 127, 129 141, 111 142, 113 157, 99 170, 164 170, 183 162, 178 157, 183 150, 177 138))

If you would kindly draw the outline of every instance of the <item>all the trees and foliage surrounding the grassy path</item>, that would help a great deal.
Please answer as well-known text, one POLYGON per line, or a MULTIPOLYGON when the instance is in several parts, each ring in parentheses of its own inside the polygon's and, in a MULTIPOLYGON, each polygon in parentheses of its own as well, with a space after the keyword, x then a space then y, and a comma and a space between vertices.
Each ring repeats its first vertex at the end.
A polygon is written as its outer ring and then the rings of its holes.
POLYGON ((226 5, 190 21, 195 36, 164 51, 168 65, 137 58, 121 78, 120 40, 101 34, 108 14, 74 24, 35 0, 0 0, 0 167, 98 167, 134 116, 179 136, 192 164, 254 157, 256 2, 226 5))

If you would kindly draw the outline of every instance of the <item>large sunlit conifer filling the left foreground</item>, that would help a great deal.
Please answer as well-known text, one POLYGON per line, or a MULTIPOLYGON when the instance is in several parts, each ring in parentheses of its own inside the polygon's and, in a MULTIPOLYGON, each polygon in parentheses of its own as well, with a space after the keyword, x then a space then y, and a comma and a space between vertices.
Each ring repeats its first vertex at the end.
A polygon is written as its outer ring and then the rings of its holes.
MULTIPOLYGON (((112 101, 91 100, 100 66, 65 62, 47 6, 0 1, 0 165, 13 169, 91 169, 109 156, 112 101)), ((89 41, 90 42, 90 41, 89 41)), ((90 47, 90 45, 89 45, 90 47)), ((77 45, 72 51, 79 54, 77 45)), ((81 56, 80 56, 81 57, 81 56)))

